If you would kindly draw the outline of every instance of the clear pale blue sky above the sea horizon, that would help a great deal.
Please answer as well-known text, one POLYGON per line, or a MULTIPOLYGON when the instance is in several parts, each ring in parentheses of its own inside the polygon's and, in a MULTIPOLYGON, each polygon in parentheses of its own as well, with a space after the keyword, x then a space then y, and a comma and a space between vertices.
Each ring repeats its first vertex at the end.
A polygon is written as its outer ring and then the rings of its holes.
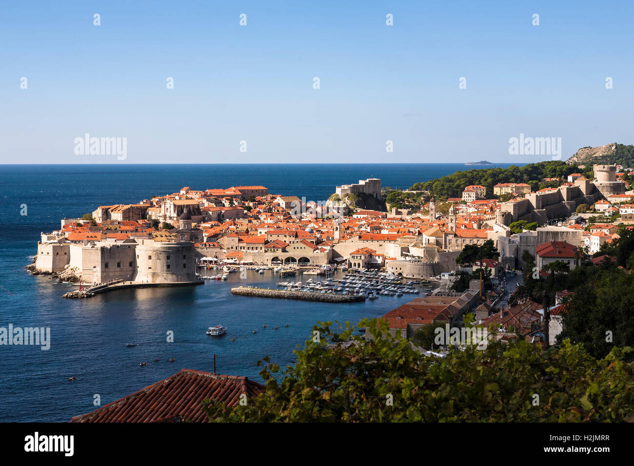
POLYGON ((3 2, 0 164, 556 157, 510 154, 521 134, 566 160, 634 143, 633 15, 631 1, 3 2), (120 155, 82 153, 86 134, 119 138, 120 155))

